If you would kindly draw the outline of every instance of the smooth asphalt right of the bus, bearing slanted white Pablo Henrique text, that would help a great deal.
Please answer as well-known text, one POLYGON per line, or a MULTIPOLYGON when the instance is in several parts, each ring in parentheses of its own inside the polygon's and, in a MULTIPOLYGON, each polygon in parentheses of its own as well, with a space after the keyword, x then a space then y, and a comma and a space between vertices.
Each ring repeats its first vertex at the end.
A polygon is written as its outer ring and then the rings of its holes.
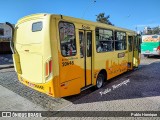
POLYGON ((160 111, 160 61, 114 78, 62 110, 160 111))

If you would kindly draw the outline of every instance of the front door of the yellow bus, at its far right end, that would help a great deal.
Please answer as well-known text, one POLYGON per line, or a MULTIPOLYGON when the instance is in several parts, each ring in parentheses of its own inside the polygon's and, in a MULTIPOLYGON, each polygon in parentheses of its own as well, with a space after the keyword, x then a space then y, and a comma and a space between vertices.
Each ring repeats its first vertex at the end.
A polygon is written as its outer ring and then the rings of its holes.
POLYGON ((134 37, 134 46, 133 46, 133 66, 138 67, 140 59, 139 59, 139 38, 138 36, 134 37))

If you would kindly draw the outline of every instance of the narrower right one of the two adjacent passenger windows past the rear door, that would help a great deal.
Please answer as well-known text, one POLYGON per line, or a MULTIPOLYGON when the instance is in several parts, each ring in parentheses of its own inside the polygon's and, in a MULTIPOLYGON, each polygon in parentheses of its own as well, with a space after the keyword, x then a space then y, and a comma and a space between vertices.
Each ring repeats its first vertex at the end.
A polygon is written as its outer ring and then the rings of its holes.
POLYGON ((126 33, 115 32, 115 50, 126 50, 126 33))

